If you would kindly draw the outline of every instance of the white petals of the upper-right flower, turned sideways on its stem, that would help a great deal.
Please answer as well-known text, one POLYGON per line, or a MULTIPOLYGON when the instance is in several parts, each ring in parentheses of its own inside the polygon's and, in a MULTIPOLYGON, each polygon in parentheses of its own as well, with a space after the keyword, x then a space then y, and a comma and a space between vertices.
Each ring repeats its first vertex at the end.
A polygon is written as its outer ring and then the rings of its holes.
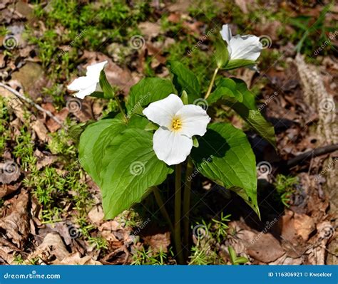
POLYGON ((232 36, 229 25, 223 25, 220 34, 224 41, 227 42, 227 51, 229 60, 247 59, 256 61, 263 49, 260 38, 257 36, 232 36))

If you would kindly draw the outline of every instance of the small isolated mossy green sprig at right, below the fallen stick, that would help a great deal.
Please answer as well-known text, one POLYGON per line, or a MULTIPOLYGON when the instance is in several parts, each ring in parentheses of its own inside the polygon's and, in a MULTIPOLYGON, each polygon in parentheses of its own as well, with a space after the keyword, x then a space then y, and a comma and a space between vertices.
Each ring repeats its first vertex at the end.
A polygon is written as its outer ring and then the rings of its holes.
POLYGON ((286 177, 283 174, 278 174, 274 183, 277 196, 287 207, 290 207, 290 198, 295 193, 295 186, 298 184, 297 177, 286 177))

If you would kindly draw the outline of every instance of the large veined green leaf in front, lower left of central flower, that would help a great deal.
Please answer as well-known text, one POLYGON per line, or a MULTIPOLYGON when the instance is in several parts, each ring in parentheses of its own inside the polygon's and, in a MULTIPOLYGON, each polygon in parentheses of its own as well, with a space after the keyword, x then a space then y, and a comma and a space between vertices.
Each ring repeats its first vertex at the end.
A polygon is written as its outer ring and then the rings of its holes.
POLYGON ((140 202, 150 186, 165 181, 171 172, 153 151, 153 134, 128 128, 113 139, 103 157, 101 191, 106 219, 140 202))

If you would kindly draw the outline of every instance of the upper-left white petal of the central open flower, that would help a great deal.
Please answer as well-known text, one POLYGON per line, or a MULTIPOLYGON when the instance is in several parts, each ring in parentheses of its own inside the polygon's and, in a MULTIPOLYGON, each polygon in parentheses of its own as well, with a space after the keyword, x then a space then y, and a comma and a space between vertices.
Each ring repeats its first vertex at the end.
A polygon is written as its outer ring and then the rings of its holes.
POLYGON ((150 103, 150 105, 143 110, 143 115, 145 115, 148 120, 169 128, 175 113, 182 107, 183 102, 178 95, 170 94, 163 100, 150 103))

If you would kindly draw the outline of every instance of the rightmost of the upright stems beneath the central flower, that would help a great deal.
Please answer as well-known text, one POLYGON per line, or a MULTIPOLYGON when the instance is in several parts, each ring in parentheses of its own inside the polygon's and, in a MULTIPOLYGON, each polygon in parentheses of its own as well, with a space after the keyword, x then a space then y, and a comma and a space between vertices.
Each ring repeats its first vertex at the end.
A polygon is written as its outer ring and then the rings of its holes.
MULTIPOLYGON (((189 248, 189 210, 191 192, 191 174, 193 174, 193 162, 188 157, 187 171, 185 172, 185 186, 183 192, 183 244, 189 248)), ((188 258, 189 250, 185 250, 185 258, 188 258)))

